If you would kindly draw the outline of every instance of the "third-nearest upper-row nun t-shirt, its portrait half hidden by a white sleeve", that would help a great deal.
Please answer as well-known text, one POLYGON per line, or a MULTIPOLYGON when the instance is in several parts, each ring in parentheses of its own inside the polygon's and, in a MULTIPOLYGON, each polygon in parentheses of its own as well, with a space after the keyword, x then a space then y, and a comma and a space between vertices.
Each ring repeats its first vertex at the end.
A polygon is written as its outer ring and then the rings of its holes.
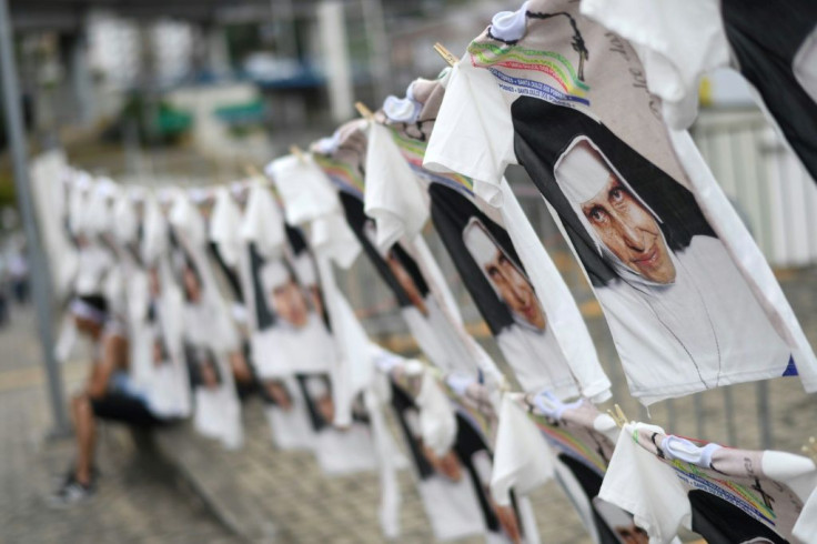
MULTIPOLYGON (((394 293, 406 324, 421 350, 444 371, 475 372, 483 356, 473 341, 452 315, 451 296, 437 294, 442 273, 434 274, 436 263, 430 252, 421 254, 421 238, 390 241, 377 245, 375 222, 364 211, 364 164, 366 161, 366 122, 351 121, 329 141, 313 147, 313 159, 339 191, 346 222, 364 253, 394 293), (432 276, 433 274, 433 276, 432 276)), ((422 246, 422 248, 421 248, 422 246)), ((493 366, 493 362, 488 363, 493 366)), ((496 372, 492 369, 492 372, 496 372)))

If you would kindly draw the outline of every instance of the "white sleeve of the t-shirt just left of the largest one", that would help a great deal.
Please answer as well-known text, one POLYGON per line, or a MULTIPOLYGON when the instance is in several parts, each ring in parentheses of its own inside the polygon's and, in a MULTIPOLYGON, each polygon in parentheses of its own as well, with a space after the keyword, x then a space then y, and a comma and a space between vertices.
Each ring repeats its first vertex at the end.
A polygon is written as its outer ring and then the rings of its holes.
POLYGON ((385 127, 369 123, 364 211, 374 219, 376 246, 384 251, 403 236, 413 240, 428 219, 427 197, 385 127))

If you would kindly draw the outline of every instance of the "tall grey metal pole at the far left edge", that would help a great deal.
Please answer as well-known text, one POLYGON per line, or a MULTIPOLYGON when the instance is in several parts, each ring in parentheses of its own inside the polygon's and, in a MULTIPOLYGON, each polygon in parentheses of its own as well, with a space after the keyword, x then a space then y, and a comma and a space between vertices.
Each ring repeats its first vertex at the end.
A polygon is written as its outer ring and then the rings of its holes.
POLYGON ((29 248, 29 262, 31 263, 31 280, 34 304, 37 306, 40 344, 42 345, 46 374, 48 375, 51 411, 54 417, 53 434, 62 435, 70 433, 70 425, 64 410, 62 376, 60 375, 59 366, 57 366, 53 339, 51 336, 51 279, 48 270, 48 261, 40 248, 34 208, 31 199, 26 129, 20 114, 22 102, 17 81, 11 21, 9 19, 9 7, 7 2, 8 0, 0 0, 0 75, 2 75, 3 112, 6 114, 9 144, 11 147, 11 162, 14 170, 17 198, 26 228, 26 241, 29 248))

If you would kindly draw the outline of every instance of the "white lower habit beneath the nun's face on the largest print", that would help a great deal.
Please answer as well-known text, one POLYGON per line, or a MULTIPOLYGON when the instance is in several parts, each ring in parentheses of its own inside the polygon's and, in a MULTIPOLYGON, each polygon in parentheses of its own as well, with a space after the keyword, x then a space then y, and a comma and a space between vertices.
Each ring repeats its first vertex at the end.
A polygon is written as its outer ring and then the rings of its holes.
POLYGON ((675 262, 678 273, 672 285, 647 291, 619 282, 596 289, 623 361, 677 362, 625 363, 633 395, 649 405, 704 389, 783 375, 790 350, 747 285, 734 281, 734 274, 722 273, 735 266, 723 244, 695 236, 675 262), (736 315, 742 320, 739 328, 734 323, 736 315), (660 326, 649 336, 633 328, 634 323, 655 322, 656 316, 660 326), (746 360, 743 353, 753 357, 746 360))

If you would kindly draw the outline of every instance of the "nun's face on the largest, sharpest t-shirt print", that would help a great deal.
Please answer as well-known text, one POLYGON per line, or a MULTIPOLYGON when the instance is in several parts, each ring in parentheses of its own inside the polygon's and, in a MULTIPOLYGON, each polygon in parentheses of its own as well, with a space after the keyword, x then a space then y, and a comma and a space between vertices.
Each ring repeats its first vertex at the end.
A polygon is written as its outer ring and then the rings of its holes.
POLYGON ((582 213, 602 243, 627 268, 656 283, 672 283, 675 265, 658 222, 634 198, 615 173, 582 213))

